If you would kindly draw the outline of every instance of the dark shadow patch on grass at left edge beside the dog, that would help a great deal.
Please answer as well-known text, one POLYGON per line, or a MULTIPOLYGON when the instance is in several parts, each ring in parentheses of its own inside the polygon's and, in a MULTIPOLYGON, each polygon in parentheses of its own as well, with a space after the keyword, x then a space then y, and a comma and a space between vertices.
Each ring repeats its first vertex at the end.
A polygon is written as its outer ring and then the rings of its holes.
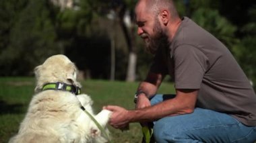
POLYGON ((0 100, 0 115, 7 113, 24 113, 25 105, 22 103, 9 104, 6 101, 0 100))

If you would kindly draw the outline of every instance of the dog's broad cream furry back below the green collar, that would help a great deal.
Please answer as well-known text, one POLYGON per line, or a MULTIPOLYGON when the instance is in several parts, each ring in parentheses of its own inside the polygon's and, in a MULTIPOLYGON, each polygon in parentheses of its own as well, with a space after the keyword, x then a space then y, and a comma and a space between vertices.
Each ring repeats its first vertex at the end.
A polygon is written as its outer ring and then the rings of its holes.
MULTIPOLYGON (((87 105, 90 107, 90 105, 87 105)), ((77 130, 81 114, 77 97, 64 91, 44 91, 35 95, 20 125, 18 135, 9 142, 76 142, 85 139, 86 131, 77 130), (68 141, 69 140, 69 141, 68 141)), ((89 119, 88 119, 89 120, 89 119)), ((84 125, 79 125, 84 124, 84 125)), ((81 127, 82 128, 82 127, 81 127)), ((88 131, 90 132, 90 131, 88 131)))

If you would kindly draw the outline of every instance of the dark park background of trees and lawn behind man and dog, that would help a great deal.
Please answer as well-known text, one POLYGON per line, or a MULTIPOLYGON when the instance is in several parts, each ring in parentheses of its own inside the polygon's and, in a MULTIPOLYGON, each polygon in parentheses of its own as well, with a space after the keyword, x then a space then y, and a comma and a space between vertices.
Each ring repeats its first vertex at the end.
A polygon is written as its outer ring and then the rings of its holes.
MULTIPOLYGON (((137 36, 135 0, 1 0, 0 142, 18 132, 34 94, 34 67, 65 54, 79 68, 82 92, 94 108, 134 108, 133 95, 153 56, 137 36)), ((256 85, 256 1, 176 0, 190 17, 222 41, 256 85)), ((232 72, 232 71, 230 71, 232 72)), ((160 93, 174 93, 168 77, 160 93)), ((121 132, 110 127, 113 142, 141 142, 139 124, 121 132)))

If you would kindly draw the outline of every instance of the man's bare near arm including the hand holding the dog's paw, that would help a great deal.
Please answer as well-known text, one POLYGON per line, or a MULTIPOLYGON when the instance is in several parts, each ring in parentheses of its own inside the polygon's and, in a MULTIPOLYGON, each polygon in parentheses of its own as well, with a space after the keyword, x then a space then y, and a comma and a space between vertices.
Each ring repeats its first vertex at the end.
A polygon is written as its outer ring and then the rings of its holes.
POLYGON ((113 105, 108 105, 104 109, 113 111, 109 121, 111 126, 124 128, 129 122, 152 122, 169 115, 192 113, 198 91, 198 89, 177 89, 177 96, 173 99, 141 109, 127 110, 113 105))

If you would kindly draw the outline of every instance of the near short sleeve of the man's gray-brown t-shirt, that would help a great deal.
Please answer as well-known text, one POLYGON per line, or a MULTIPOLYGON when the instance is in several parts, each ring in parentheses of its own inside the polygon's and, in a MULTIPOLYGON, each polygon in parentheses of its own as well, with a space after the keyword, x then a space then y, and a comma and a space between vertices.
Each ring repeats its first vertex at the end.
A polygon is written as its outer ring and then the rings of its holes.
POLYGON ((207 69, 207 56, 194 46, 183 44, 174 49, 174 87, 199 89, 207 69))

